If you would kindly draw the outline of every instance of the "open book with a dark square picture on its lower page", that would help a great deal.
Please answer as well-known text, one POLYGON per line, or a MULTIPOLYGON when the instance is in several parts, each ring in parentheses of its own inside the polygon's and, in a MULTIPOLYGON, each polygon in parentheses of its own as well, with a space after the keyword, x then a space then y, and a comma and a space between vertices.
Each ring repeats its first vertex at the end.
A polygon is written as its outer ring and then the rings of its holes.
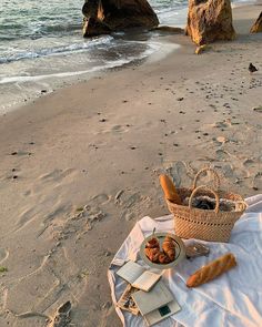
POLYGON ((150 292, 138 290, 133 293, 132 298, 149 326, 180 310, 174 296, 162 280, 157 283, 150 292))

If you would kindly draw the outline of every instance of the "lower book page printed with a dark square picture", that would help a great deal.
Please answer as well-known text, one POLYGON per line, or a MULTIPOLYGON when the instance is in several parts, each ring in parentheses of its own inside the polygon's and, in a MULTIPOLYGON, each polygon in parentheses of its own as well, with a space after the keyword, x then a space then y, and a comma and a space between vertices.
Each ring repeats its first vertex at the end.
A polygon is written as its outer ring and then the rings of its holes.
POLYGON ((147 315, 144 315, 144 319, 149 326, 152 326, 170 316, 173 314, 178 313, 181 310, 181 307, 177 303, 177 300, 172 300, 164 305, 163 307, 155 309, 147 315))

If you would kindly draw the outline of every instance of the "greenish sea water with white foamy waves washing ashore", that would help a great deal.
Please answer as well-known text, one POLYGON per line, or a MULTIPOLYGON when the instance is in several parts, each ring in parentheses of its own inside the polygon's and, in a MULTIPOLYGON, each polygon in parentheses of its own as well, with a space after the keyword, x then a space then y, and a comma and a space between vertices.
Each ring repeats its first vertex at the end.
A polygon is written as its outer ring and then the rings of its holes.
MULTIPOLYGON (((0 114, 64 84, 175 48, 158 33, 82 38, 83 0, 0 0, 0 114)), ((149 0, 161 24, 184 27, 188 1, 149 0)))

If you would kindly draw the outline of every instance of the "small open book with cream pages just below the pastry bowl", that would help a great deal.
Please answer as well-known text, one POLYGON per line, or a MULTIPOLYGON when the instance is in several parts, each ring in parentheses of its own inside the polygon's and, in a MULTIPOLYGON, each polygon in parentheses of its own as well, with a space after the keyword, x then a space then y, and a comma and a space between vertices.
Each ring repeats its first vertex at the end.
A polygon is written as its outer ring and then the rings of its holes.
POLYGON ((133 287, 144 292, 149 292, 161 277, 161 275, 154 274, 132 260, 123 265, 117 274, 133 287))

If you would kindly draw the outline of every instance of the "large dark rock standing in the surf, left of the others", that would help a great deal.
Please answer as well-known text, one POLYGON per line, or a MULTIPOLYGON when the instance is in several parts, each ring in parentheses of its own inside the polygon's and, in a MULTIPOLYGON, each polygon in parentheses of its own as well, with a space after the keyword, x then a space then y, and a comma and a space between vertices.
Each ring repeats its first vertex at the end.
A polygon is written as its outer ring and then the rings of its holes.
POLYGON ((82 12, 84 37, 128 28, 151 29, 159 24, 147 0, 85 0, 82 12))

